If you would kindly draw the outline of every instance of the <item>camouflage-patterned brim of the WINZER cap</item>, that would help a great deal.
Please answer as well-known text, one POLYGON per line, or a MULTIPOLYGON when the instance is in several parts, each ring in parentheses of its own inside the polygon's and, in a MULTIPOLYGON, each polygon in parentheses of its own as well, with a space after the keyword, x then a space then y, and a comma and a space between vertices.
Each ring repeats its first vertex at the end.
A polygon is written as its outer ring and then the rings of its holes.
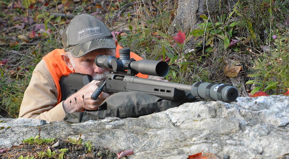
POLYGON ((96 49, 116 49, 116 45, 112 38, 102 38, 90 40, 72 48, 70 51, 73 57, 79 58, 96 49))

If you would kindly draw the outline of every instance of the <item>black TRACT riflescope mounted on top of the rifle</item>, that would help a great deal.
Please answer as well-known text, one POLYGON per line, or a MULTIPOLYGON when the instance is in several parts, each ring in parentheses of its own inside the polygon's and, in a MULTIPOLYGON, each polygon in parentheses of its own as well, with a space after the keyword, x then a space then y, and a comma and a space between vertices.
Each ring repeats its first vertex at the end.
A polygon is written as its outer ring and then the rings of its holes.
POLYGON ((127 70, 127 74, 136 75, 138 72, 144 75, 164 77, 168 74, 168 64, 164 61, 139 60, 130 58, 130 49, 119 49, 119 58, 114 56, 99 55, 95 58, 98 67, 112 69, 114 73, 127 70))

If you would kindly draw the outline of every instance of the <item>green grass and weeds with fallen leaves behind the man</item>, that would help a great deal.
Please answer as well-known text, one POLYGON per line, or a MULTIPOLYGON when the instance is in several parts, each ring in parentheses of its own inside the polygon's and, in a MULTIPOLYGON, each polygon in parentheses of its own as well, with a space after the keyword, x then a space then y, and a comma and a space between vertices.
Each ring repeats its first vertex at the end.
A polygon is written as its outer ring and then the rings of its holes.
POLYGON ((173 21, 176 0, 152 1, 152 7, 139 0, 107 1, 108 14, 101 4, 88 0, 0 3, 0 114, 5 117, 18 117, 34 67, 45 54, 62 48, 60 35, 70 19, 51 13, 86 12, 110 27, 109 14, 115 31, 123 31, 117 35, 120 45, 143 58, 167 59, 170 82, 230 83, 224 68, 241 66, 231 78, 243 78, 248 92, 262 90, 273 95, 289 87, 287 1, 217 1, 209 12, 199 15, 201 24, 193 29, 181 29, 173 21), (121 10, 124 6, 126 10, 121 10), (40 24, 42 30, 36 30, 40 24), (181 44, 172 38, 179 30, 185 34, 181 44), (239 41, 229 46, 230 40, 239 41))

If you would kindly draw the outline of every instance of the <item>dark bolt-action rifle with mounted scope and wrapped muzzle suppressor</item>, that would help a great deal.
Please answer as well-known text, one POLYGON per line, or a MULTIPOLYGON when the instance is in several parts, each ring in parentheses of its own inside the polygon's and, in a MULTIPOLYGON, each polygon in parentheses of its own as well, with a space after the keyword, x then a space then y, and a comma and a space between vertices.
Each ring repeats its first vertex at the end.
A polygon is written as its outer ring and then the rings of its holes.
MULTIPOLYGON (((138 91, 155 95, 164 99, 183 99, 189 91, 199 100, 209 99, 214 101, 232 102, 238 97, 237 88, 219 83, 195 82, 191 85, 145 79, 135 76, 138 73, 164 77, 169 67, 164 61, 139 60, 130 58, 130 49, 119 49, 119 58, 114 56, 99 55, 95 58, 98 67, 110 69, 106 79, 100 81, 99 88, 91 95, 97 99, 101 92, 117 93, 138 91)), ((90 75, 70 73, 60 80, 62 100, 76 92, 91 81, 90 75)))

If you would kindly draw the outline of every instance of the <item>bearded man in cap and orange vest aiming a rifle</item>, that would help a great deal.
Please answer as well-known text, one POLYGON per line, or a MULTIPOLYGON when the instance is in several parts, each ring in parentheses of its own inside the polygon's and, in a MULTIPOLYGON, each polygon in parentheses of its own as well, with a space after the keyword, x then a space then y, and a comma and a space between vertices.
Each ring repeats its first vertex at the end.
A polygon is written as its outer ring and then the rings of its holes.
MULTIPOLYGON (((64 29, 62 43, 64 49, 51 51, 37 64, 24 93, 19 117, 63 121, 66 113, 97 110, 110 96, 102 92, 96 100, 90 97, 98 88, 97 83, 109 73, 108 69, 95 65, 95 57, 118 57, 118 49, 121 49, 107 26, 94 16, 79 13, 64 29), (59 81, 71 72, 91 75, 94 80, 61 102, 59 81)), ((131 58, 142 59, 132 52, 131 58)), ((138 77, 159 78, 142 74, 138 77)))

